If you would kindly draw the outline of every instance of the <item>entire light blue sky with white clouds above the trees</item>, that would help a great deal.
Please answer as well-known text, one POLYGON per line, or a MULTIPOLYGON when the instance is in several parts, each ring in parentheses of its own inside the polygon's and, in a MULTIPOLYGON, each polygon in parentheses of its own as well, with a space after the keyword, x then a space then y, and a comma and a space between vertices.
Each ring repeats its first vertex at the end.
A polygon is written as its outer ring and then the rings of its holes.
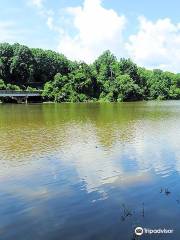
POLYGON ((104 50, 180 72, 178 0, 0 0, 0 42, 93 62, 104 50))

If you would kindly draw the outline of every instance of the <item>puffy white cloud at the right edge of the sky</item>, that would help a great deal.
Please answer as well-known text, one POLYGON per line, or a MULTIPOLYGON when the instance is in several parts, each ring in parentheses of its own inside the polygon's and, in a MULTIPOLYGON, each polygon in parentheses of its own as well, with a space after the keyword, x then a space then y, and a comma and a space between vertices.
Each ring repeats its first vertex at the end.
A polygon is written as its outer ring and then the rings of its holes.
POLYGON ((129 56, 141 66, 179 71, 180 23, 174 24, 169 18, 152 22, 140 17, 139 24, 139 31, 126 44, 129 56))

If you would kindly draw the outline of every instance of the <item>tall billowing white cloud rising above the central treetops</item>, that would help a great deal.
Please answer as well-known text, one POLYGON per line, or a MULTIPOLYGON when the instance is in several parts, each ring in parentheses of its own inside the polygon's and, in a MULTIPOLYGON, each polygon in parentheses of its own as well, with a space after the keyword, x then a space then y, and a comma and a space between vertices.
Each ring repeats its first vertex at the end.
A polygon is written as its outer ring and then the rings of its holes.
POLYGON ((83 6, 67 8, 66 13, 76 33, 72 36, 64 29, 59 41, 60 52, 70 59, 86 62, 92 62, 107 49, 116 54, 120 52, 126 23, 123 15, 105 9, 101 0, 84 0, 83 6))

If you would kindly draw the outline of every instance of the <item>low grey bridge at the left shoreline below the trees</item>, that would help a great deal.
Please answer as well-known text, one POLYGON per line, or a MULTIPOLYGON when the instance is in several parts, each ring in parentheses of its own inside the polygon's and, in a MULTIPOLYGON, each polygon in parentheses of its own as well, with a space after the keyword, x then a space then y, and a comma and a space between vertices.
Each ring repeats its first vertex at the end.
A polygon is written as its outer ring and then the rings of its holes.
POLYGON ((0 90, 0 98, 11 98, 17 102, 28 102, 29 97, 41 97, 41 91, 0 90))

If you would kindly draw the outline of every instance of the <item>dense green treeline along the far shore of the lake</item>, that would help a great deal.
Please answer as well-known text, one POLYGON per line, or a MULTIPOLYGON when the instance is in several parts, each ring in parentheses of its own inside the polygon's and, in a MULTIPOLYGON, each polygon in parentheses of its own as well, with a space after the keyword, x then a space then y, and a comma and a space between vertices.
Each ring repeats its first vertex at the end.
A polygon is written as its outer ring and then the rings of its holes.
POLYGON ((180 74, 147 70, 105 51, 93 64, 51 50, 0 44, 0 90, 43 89, 45 101, 180 99, 180 74))

